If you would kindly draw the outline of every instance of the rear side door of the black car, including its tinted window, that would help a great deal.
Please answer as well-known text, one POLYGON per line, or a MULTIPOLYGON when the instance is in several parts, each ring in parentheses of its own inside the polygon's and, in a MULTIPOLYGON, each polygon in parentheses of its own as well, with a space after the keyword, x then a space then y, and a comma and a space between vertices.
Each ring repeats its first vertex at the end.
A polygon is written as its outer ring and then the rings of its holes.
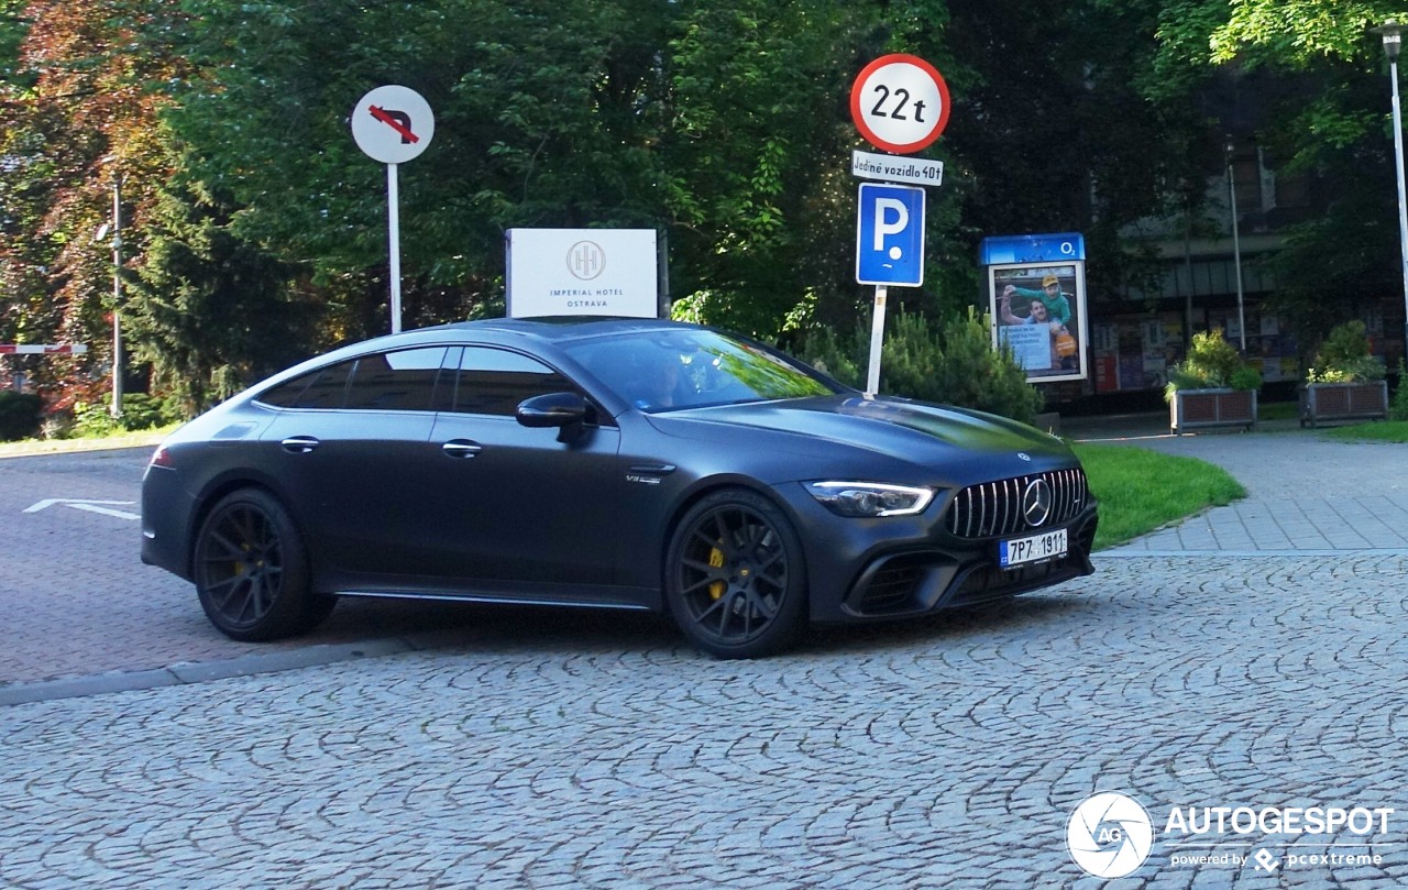
POLYGON ((331 366, 286 397, 262 434, 325 586, 410 575, 424 562, 411 482, 436 456, 435 389, 452 352, 458 359, 458 348, 396 349, 331 366))

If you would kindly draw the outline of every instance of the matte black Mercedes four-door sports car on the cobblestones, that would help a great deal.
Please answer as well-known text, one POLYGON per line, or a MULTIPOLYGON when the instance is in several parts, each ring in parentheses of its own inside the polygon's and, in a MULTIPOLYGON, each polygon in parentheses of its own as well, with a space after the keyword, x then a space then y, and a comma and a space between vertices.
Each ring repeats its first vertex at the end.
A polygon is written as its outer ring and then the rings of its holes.
POLYGON ((1060 439, 867 397, 658 320, 493 320, 304 362, 170 435, 142 560, 235 639, 338 596, 669 610, 721 658, 805 621, 918 615, 1088 575, 1060 439))

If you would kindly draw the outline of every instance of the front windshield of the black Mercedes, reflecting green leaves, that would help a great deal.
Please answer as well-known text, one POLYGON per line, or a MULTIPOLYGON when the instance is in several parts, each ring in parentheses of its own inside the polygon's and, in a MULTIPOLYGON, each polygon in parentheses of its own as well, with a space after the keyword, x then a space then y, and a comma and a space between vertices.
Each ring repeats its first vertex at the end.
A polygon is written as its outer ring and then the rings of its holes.
POLYGON ((569 342, 563 349, 649 413, 838 391, 805 365, 718 331, 638 332, 569 342))

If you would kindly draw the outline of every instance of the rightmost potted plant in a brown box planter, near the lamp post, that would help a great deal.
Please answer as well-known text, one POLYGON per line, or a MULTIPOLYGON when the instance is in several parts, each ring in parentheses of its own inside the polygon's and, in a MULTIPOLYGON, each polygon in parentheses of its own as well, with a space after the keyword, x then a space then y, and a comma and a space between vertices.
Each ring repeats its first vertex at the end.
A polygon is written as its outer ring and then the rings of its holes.
POLYGON ((1384 366, 1369 351, 1363 321, 1331 328, 1305 373, 1301 389, 1301 425, 1326 420, 1384 420, 1388 417, 1388 383, 1384 366))

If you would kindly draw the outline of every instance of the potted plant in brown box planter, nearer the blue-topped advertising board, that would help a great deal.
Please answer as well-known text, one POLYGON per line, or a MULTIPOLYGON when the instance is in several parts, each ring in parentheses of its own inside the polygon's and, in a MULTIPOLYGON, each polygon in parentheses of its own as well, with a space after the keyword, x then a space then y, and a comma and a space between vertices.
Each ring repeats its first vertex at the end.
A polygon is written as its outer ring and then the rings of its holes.
POLYGON ((1193 335, 1187 358, 1169 369, 1164 401, 1169 430, 1183 435, 1198 427, 1243 427, 1256 422, 1262 373, 1242 361, 1222 331, 1193 335))

